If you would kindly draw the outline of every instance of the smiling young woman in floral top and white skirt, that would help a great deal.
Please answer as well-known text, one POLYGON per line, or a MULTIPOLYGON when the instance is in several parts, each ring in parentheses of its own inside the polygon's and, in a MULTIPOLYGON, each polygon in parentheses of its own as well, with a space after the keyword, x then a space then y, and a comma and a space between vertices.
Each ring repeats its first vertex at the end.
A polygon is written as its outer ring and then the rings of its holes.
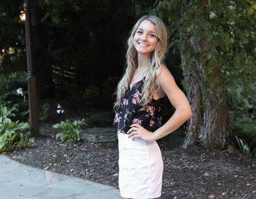
POLYGON ((159 198, 162 155, 157 140, 192 117, 187 97, 163 64, 167 31, 159 17, 141 17, 128 39, 127 69, 116 92, 118 184, 123 198, 159 198), (176 109, 161 126, 162 98, 176 109))

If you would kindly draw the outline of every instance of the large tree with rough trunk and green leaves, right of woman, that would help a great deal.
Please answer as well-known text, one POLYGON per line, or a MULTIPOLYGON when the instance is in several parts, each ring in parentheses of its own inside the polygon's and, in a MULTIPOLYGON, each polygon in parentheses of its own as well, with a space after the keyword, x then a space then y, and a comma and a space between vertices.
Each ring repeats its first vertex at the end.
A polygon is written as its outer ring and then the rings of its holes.
POLYGON ((154 13, 170 28, 170 50, 181 57, 183 85, 192 104, 185 148, 227 144, 229 99, 255 83, 255 7, 249 0, 155 4, 154 13))

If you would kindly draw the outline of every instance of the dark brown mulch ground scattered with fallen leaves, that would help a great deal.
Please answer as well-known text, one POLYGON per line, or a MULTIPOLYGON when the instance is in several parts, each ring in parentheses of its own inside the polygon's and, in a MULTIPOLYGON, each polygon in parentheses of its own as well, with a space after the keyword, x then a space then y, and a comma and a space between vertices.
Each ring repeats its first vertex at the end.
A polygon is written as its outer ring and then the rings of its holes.
MULTIPOLYGON (((116 143, 65 144, 42 125, 35 147, 7 153, 20 163, 118 187, 116 143)), ((158 141, 165 163, 161 199, 256 198, 256 162, 236 149, 171 148, 158 141)))

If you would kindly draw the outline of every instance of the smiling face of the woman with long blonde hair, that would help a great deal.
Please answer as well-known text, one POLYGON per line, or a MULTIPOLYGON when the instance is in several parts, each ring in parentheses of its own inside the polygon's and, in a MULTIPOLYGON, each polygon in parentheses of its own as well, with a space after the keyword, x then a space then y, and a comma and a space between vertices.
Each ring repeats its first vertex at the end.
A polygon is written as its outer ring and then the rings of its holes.
POLYGON ((133 45, 138 53, 146 55, 151 54, 157 46, 157 35, 154 30, 154 24, 148 20, 143 20, 135 31, 133 45))

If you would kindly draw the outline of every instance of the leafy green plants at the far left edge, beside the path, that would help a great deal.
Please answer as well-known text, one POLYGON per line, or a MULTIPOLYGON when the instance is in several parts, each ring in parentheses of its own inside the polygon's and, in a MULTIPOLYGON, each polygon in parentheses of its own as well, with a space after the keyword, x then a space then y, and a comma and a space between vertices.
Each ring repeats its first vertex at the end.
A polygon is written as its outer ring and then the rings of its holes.
POLYGON ((18 105, 7 107, 0 104, 0 152, 29 147, 34 144, 34 138, 23 136, 23 131, 29 128, 28 122, 13 122, 18 105))

